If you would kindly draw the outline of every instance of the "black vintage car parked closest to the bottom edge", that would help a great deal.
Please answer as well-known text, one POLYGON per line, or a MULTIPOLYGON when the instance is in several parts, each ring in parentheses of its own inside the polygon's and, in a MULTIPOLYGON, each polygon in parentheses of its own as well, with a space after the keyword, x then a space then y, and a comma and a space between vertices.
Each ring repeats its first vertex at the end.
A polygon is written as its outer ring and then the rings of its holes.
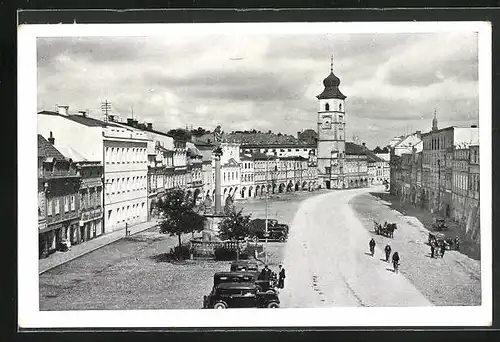
POLYGON ((204 309, 279 308, 276 293, 260 292, 254 283, 221 283, 203 296, 204 309))

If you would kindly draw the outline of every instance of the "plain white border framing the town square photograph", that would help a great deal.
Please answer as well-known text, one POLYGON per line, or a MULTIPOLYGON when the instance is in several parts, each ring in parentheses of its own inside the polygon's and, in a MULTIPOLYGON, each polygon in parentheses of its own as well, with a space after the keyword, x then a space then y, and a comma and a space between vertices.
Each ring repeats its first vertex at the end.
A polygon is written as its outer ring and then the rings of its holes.
POLYGON ((21 25, 18 29, 18 317, 22 328, 487 326, 492 319, 491 25, 487 22, 21 25), (168 34, 479 33, 481 291, 477 307, 39 311, 37 37, 168 34), (25 209, 28 208, 28 209, 25 209), (30 210, 29 208, 33 208, 30 210), (33 213, 33 214, 32 214, 33 213), (388 319, 391 317, 391 319, 388 319))

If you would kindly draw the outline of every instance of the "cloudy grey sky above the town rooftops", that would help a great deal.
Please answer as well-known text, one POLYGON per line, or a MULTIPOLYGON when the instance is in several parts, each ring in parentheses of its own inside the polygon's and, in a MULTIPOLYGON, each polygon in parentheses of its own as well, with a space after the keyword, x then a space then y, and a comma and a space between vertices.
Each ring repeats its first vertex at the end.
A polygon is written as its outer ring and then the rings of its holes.
POLYGON ((158 130, 193 125, 316 129, 330 72, 347 96, 347 137, 371 148, 406 132, 478 123, 475 33, 38 38, 38 110, 69 105, 158 130))

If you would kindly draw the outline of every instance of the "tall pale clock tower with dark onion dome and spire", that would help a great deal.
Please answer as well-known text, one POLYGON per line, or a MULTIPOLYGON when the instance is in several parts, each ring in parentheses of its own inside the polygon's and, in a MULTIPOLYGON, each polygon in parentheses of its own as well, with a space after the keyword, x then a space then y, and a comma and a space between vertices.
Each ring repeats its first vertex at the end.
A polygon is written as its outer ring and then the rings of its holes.
POLYGON ((333 160, 345 157, 345 106, 346 96, 339 90, 340 79, 333 73, 323 80, 325 89, 318 98, 318 176, 322 187, 336 187, 336 167, 333 160), (333 169, 332 169, 333 168, 333 169))

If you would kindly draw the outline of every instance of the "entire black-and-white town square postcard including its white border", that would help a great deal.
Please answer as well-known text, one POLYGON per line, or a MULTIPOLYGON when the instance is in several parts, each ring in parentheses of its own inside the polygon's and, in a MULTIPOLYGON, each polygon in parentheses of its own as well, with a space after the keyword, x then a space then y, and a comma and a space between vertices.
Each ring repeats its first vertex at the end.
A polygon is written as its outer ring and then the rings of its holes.
POLYGON ((26 317, 489 324, 487 23, 106 26, 19 50, 26 317))

